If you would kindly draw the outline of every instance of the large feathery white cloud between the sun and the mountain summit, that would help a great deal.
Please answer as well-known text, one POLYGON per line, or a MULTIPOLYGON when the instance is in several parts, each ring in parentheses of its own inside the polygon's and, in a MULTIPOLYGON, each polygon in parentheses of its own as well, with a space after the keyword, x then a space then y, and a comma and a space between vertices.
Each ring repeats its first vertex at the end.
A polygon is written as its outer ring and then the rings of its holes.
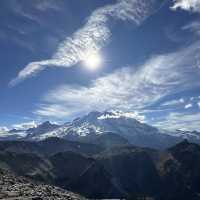
POLYGON ((194 55, 199 55, 198 48, 196 42, 178 52, 154 56, 137 68, 124 67, 89 86, 60 86, 44 97, 35 113, 62 118, 92 110, 144 109, 166 95, 200 85, 200 70, 194 59, 194 55))

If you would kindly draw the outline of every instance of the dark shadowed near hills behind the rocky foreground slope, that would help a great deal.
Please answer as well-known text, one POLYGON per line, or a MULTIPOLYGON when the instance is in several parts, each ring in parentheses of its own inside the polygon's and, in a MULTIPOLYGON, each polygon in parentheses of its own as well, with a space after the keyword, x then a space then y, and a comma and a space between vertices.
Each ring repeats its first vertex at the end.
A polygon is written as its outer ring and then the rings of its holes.
MULTIPOLYGON (((61 139, 48 140, 60 144, 61 139)), ((42 144, 45 146, 48 140, 42 144)), ((98 141, 101 143, 101 138, 98 141)), ((41 147, 41 142, 38 143, 41 147)), ((184 140, 164 151, 135 147, 126 142, 101 148, 92 155, 77 152, 76 148, 48 155, 33 154, 30 149, 28 153, 14 153, 1 148, 0 168, 88 198, 199 199, 199 145, 184 140)))

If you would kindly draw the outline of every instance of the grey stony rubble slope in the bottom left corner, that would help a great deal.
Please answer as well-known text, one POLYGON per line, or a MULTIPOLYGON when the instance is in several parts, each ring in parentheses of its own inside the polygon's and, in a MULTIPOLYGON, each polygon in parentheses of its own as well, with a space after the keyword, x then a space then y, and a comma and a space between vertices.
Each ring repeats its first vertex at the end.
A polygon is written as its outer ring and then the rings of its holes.
POLYGON ((0 199, 2 200, 85 200, 58 187, 37 184, 12 173, 0 171, 0 199))

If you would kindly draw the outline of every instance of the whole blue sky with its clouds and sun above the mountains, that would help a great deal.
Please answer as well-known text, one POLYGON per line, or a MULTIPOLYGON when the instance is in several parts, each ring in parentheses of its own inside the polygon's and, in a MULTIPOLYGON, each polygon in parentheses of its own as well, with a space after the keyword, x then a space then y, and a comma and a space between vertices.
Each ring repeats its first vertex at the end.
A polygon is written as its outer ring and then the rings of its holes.
POLYGON ((94 110, 200 131, 199 0, 0 1, 0 130, 94 110))

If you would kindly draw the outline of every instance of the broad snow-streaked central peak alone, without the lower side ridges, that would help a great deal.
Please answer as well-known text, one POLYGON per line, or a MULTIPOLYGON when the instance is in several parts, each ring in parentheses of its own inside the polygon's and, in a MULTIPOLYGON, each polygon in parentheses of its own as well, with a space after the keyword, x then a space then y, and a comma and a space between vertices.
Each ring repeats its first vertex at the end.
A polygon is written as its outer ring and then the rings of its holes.
POLYGON ((81 138, 92 135, 117 133, 123 137, 130 135, 152 135, 158 130, 149 125, 140 123, 132 117, 121 112, 91 112, 82 118, 77 118, 69 124, 58 129, 36 136, 35 139, 45 139, 49 136, 64 138, 81 138))

